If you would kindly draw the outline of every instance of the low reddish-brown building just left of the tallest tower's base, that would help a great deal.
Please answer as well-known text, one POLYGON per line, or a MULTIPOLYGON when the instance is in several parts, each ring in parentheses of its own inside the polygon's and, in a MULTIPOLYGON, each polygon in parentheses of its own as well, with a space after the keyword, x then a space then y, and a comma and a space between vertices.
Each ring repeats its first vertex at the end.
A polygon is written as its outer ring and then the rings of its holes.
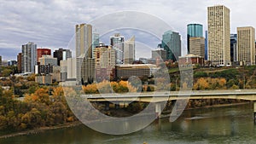
POLYGON ((185 56, 180 56, 178 58, 178 65, 179 66, 186 66, 192 64, 195 66, 196 64, 199 64, 200 66, 204 66, 204 57, 199 56, 199 55, 185 55, 185 56))

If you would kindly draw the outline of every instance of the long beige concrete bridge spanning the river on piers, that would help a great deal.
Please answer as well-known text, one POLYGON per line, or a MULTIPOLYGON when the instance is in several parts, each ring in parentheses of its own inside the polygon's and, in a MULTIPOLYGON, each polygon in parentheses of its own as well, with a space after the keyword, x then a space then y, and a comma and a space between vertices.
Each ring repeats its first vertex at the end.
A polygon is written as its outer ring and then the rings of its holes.
POLYGON ((146 93, 127 94, 94 94, 81 95, 82 98, 90 102, 115 103, 119 107, 121 102, 141 101, 155 103, 155 112, 159 115, 160 102, 172 100, 202 100, 202 99, 232 99, 254 101, 254 121, 256 122, 256 89, 234 89, 234 90, 196 90, 196 91, 160 91, 146 93))

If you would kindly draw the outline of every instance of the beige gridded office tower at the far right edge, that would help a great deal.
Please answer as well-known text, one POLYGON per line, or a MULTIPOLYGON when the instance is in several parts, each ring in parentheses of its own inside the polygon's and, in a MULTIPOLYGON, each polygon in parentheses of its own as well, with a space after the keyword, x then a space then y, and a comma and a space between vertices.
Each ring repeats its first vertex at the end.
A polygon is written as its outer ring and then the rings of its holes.
POLYGON ((255 29, 252 26, 237 27, 238 61, 242 65, 255 65, 255 29))

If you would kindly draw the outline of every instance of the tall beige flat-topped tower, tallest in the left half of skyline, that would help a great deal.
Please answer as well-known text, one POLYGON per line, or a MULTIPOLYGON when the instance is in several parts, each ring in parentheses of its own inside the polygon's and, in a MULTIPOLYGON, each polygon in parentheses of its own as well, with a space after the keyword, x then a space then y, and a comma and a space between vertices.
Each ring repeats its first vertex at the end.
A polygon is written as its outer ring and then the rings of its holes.
POLYGON ((90 24, 76 25, 76 57, 92 58, 91 44, 92 26, 90 24))

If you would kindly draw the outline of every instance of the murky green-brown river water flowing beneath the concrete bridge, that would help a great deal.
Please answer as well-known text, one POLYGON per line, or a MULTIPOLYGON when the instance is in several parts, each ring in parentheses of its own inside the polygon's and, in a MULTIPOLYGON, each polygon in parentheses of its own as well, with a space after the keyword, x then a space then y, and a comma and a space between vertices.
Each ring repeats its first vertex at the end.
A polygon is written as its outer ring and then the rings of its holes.
POLYGON ((79 125, 0 140, 1 144, 256 143, 253 105, 187 110, 173 123, 155 120, 130 135, 105 135, 79 125))

